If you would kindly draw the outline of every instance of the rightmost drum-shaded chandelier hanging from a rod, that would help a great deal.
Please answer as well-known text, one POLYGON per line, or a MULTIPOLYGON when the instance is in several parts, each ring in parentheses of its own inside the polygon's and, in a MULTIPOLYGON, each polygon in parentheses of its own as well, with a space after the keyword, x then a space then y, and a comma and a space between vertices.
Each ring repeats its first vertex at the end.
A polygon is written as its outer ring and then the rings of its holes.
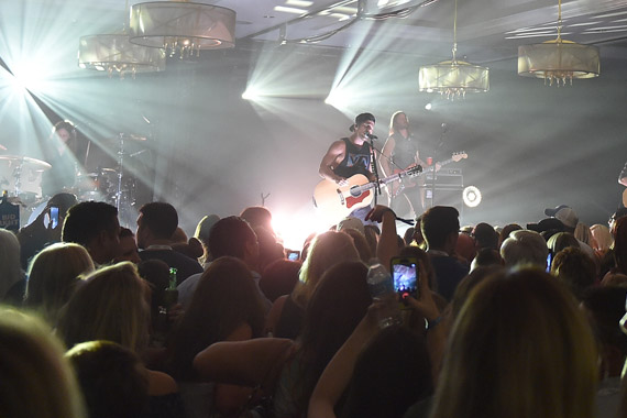
POLYGON ((518 47, 518 75, 543 78, 544 84, 572 86, 573 78, 593 78, 601 73, 598 48, 562 40, 562 1, 558 0, 558 38, 518 47))

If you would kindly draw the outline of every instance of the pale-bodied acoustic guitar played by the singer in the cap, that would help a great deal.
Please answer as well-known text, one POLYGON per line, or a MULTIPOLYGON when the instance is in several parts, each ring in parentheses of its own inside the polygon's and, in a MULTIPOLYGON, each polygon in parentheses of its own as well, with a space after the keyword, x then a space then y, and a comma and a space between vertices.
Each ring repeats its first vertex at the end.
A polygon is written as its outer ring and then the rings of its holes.
MULTIPOLYGON (((417 165, 383 178, 380 184, 387 185, 403 177, 417 176, 421 172, 422 167, 417 165)), ((328 213, 336 215, 338 219, 345 218, 355 209, 369 206, 374 199, 371 190, 376 187, 376 182, 370 182, 363 174, 355 174, 346 180, 349 184, 345 186, 338 186, 337 183, 327 179, 320 182, 314 189, 314 205, 328 213)))

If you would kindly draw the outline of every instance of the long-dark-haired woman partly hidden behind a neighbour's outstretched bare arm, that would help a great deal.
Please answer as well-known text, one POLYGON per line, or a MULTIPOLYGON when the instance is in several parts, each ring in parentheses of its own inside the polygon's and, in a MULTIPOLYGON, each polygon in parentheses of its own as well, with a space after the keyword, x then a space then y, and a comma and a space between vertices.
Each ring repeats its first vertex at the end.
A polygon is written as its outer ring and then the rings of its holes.
POLYGON ((191 366, 194 356, 218 341, 262 337, 263 326, 264 305, 248 266, 230 256, 213 261, 175 329, 168 361, 168 371, 179 382, 186 409, 194 410, 195 417, 208 417, 216 411, 231 416, 245 404, 252 391, 201 384, 191 366))

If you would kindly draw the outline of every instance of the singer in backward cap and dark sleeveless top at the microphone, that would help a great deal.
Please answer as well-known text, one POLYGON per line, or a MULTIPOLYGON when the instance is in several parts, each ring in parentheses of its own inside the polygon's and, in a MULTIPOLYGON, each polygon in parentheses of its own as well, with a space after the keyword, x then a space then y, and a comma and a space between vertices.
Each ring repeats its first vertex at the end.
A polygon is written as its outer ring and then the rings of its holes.
MULTIPOLYGON (((339 186, 348 185, 346 178, 355 174, 365 175, 374 182, 371 172, 371 147, 369 135, 374 130, 375 119, 372 113, 360 113, 350 127, 352 134, 331 144, 327 154, 320 162, 319 174, 322 178, 337 183, 339 186)), ((364 221, 370 207, 354 210, 351 216, 364 221)))

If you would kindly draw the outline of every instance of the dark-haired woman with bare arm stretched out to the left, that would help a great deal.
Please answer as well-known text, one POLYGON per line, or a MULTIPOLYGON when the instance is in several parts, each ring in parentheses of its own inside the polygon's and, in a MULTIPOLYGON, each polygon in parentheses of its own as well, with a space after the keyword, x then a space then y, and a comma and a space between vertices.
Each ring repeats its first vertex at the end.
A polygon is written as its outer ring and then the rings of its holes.
POLYGON ((297 342, 262 338, 216 343, 196 356, 195 369, 207 381, 261 385, 273 394, 273 417, 305 416, 320 374, 372 304, 366 274, 359 261, 329 268, 307 305, 297 342))

